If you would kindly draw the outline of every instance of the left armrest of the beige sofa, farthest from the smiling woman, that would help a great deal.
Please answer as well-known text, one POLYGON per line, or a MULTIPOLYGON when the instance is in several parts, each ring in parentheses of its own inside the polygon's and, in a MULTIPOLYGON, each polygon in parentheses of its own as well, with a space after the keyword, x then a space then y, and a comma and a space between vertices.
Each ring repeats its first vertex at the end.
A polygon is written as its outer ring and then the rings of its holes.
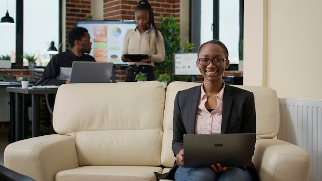
POLYGON ((45 135, 10 143, 4 152, 5 167, 35 180, 55 180, 59 171, 79 167, 75 139, 45 135))

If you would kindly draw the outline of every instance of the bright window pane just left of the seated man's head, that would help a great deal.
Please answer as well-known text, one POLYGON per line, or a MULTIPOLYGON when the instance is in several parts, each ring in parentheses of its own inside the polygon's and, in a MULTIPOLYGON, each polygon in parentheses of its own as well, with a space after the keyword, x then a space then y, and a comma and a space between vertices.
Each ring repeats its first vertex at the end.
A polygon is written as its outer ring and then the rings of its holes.
MULTIPOLYGON (((59 45, 59 1, 28 0, 24 3, 24 53, 39 57, 37 66, 46 66, 50 42, 59 45)), ((24 59, 24 66, 28 61, 24 59)))

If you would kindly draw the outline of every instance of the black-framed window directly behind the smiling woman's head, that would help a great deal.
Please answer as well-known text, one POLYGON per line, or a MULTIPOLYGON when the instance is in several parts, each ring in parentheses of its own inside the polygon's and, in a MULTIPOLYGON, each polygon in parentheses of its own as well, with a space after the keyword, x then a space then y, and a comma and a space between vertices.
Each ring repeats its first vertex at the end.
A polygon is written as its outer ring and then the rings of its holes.
POLYGON ((240 2, 243 1, 191 0, 191 42, 195 47, 218 39, 229 51, 230 64, 238 64, 240 29, 243 28, 240 26, 240 2))

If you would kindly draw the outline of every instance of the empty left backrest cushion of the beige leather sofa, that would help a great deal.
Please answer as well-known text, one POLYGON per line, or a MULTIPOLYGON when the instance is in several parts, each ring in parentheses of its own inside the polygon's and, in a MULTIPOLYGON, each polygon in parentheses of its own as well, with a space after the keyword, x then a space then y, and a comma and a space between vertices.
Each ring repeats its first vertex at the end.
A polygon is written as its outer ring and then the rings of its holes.
POLYGON ((80 166, 159 166, 164 104, 158 81, 64 84, 52 124, 75 138, 80 166))

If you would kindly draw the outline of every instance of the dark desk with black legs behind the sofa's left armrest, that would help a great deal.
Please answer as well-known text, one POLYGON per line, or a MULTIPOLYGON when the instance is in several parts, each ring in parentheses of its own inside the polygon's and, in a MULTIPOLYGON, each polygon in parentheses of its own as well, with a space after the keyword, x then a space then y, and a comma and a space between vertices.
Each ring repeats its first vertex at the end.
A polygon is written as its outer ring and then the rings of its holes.
MULTIPOLYGON (((22 87, 7 87, 7 92, 10 92, 10 125, 14 125, 15 133, 10 133, 11 141, 17 141, 26 135, 25 131, 28 128, 26 125, 26 114, 28 107, 26 106, 26 96, 31 95, 31 137, 39 135, 39 96, 42 94, 56 94, 58 88, 22 88, 22 87)), ((10 126, 12 128, 13 126, 10 126)), ((13 128, 12 128, 13 129, 13 128)))

